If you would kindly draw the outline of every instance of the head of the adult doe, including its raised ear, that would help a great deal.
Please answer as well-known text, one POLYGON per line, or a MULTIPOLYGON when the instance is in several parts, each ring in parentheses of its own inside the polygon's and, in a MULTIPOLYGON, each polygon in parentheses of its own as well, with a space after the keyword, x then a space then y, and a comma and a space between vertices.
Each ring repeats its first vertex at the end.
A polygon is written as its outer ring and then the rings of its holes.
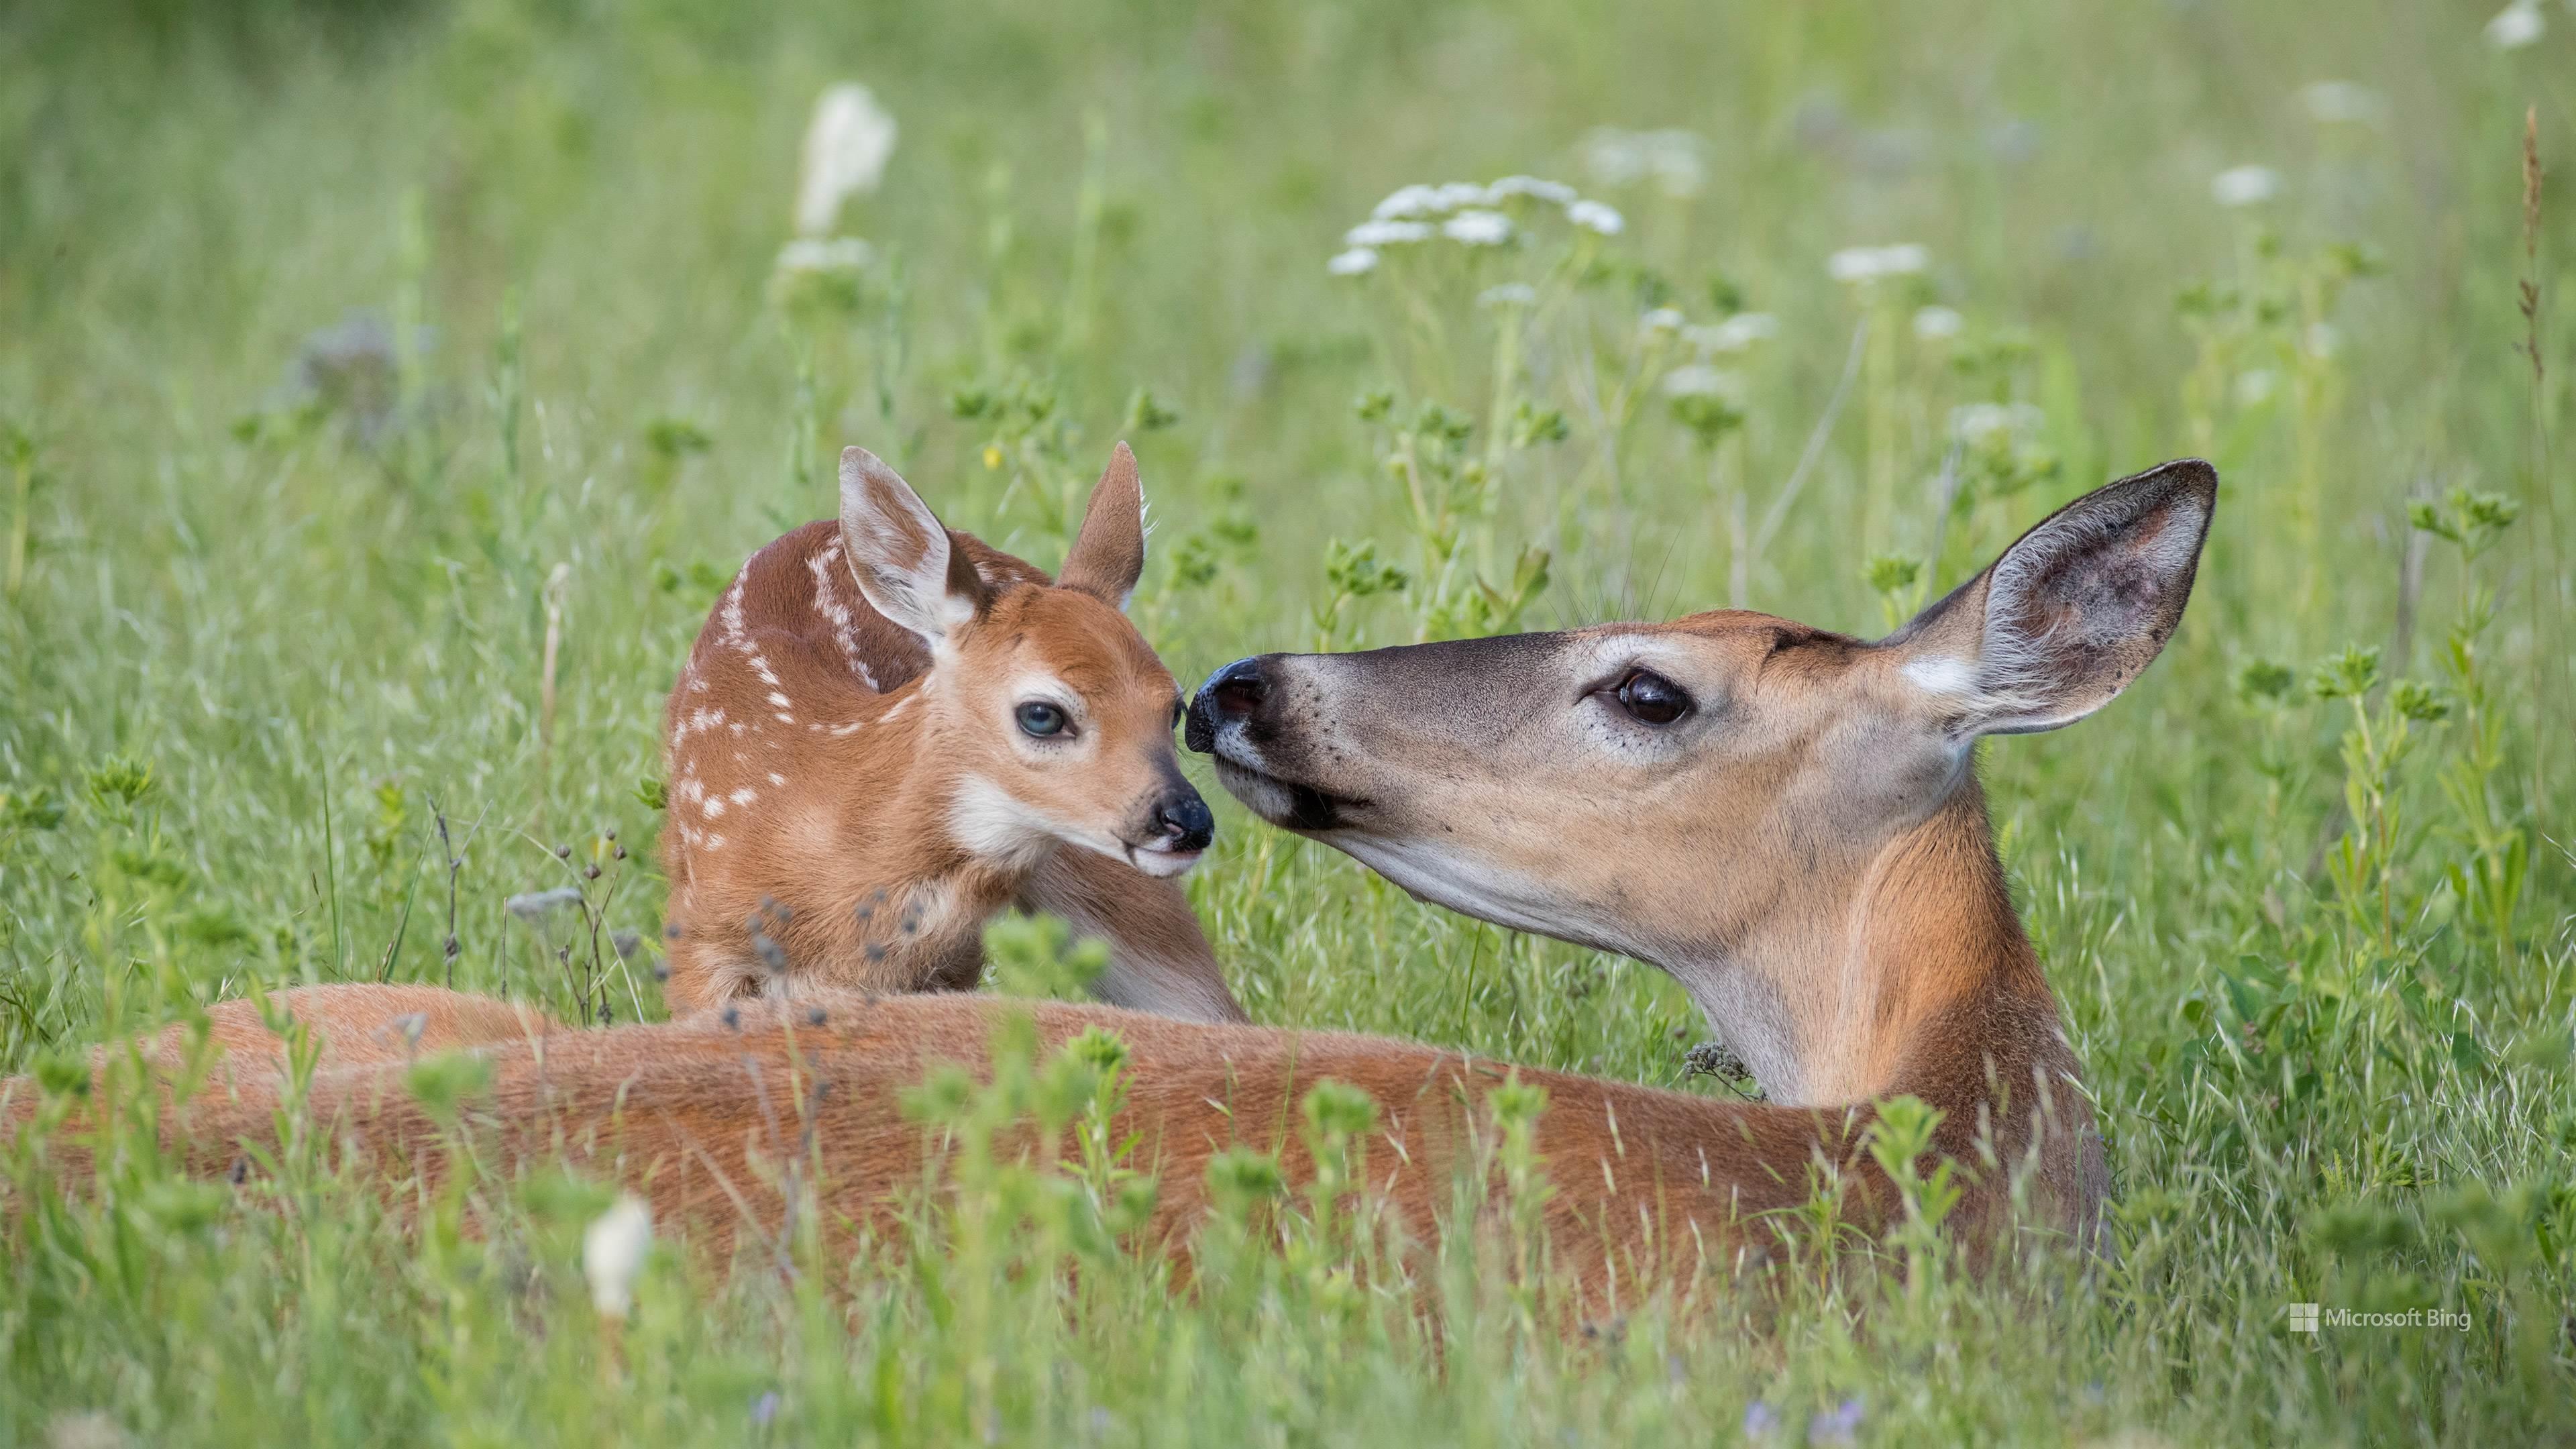
POLYGON ((1190 748, 1419 897, 1716 972, 1973 789, 1981 735, 2071 724, 2138 678, 2215 490, 2200 462, 2112 482, 1875 645, 1721 611, 1239 660, 1198 691, 1190 748))

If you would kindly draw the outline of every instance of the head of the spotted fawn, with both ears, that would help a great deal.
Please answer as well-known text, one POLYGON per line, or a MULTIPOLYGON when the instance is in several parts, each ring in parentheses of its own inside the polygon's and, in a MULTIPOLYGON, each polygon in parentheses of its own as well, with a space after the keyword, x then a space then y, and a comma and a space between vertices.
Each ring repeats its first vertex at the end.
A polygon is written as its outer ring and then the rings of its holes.
POLYGON ((840 539, 868 606, 930 645, 922 748, 953 771, 948 828, 1002 864, 1054 843, 1172 877, 1216 820, 1172 750, 1180 691, 1121 608, 1144 572, 1126 443, 1054 585, 994 583, 891 467, 840 454, 840 539))

